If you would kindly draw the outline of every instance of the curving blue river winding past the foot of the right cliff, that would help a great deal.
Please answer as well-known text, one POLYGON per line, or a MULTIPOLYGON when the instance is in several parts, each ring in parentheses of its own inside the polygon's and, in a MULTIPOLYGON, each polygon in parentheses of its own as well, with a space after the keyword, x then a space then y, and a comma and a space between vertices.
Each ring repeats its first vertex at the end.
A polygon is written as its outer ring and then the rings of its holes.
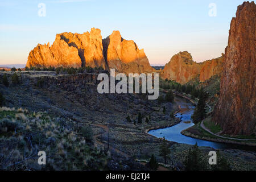
POLYGON ((176 114, 176 117, 181 118, 181 122, 175 126, 167 127, 165 129, 150 130, 148 131, 149 134, 154 135, 155 137, 158 138, 165 137, 167 140, 177 143, 195 144, 197 142, 198 146, 212 147, 215 149, 234 148, 240 150, 256 151, 256 147, 241 146, 239 144, 210 142, 207 140, 201 140, 182 135, 182 130, 188 129, 189 127, 195 125, 191 119, 191 115, 193 114, 195 106, 193 106, 191 102, 185 100, 185 98, 178 96, 175 96, 175 102, 181 106, 180 112, 176 114))

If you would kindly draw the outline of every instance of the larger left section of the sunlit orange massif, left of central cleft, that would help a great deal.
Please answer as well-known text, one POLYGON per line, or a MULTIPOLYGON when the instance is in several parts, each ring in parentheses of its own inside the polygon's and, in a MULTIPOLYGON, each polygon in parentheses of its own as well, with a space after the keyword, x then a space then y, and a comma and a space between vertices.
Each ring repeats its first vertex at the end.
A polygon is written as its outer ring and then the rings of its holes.
POLYGON ((100 29, 84 34, 57 34, 53 45, 38 44, 28 56, 27 67, 102 67, 106 69, 100 29))

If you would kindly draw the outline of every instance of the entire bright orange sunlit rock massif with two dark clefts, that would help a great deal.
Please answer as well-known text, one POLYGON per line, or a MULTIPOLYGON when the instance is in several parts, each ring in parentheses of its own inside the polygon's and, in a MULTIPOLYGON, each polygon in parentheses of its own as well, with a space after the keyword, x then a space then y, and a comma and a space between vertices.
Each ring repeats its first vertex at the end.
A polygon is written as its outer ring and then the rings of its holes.
POLYGON ((27 67, 115 68, 122 73, 152 72, 147 56, 133 40, 119 31, 102 40, 100 29, 84 34, 57 34, 52 46, 38 44, 28 56, 27 67), (103 45, 102 45, 103 42, 103 45), (105 57, 104 57, 105 56, 105 57))

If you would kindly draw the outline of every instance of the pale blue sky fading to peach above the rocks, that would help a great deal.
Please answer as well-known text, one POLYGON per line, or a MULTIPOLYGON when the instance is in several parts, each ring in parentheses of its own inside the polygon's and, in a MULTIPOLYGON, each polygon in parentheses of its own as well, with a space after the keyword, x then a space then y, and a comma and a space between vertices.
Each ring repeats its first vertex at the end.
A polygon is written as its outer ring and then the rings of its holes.
POLYGON ((82 34, 92 27, 101 29, 102 38, 119 30, 144 49, 150 64, 166 64, 180 51, 202 62, 224 52, 230 21, 242 2, 1 0, 0 64, 26 64, 38 43, 52 44, 56 34, 82 34))

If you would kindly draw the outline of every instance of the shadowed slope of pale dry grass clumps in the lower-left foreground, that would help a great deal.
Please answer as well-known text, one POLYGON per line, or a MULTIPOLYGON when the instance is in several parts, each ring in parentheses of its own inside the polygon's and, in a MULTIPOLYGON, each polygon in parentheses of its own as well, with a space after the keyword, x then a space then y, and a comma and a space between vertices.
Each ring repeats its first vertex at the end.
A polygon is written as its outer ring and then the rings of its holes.
POLYGON ((90 137, 89 126, 81 130, 65 118, 1 107, 0 170, 105 169, 108 156, 90 137), (46 152, 46 165, 38 164, 39 151, 46 152))

